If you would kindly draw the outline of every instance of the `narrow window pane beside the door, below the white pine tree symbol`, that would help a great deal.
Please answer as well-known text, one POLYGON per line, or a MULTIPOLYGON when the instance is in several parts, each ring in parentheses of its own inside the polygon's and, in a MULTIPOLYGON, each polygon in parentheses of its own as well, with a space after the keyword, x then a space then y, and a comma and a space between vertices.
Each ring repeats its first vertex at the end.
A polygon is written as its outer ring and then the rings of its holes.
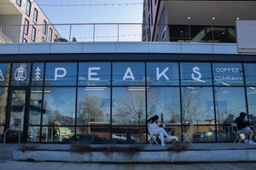
MULTIPOLYGON (((40 125, 42 113, 42 94, 43 88, 31 88, 29 105, 29 124, 40 125)), ((43 111, 43 114, 45 112, 43 111)))

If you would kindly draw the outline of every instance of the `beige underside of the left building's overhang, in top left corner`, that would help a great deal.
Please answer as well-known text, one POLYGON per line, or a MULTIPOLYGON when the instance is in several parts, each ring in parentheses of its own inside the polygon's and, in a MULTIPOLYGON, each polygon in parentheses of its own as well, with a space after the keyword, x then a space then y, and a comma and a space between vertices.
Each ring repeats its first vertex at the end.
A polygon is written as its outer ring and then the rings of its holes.
MULTIPOLYGON (((15 1, 13 1, 15 3, 15 1)), ((20 14, 14 3, 9 0, 0 0, 0 14, 20 14)))

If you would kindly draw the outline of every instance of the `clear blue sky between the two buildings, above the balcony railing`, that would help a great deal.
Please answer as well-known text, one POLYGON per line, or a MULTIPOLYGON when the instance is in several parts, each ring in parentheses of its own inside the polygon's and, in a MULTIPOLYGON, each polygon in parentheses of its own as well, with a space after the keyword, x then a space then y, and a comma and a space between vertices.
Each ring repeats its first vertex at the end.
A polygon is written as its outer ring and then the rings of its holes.
POLYGON ((142 23, 143 0, 36 0, 53 24, 142 23), (121 3, 121 5, 116 4, 121 3), (122 4, 133 3, 133 4, 122 4), (135 4, 134 4, 135 3, 135 4), (72 6, 80 4, 79 6, 72 6), (84 7, 82 6, 84 4, 84 7), (99 4, 89 5, 89 4, 99 4), (104 5, 106 4, 106 6, 104 5), (44 6, 50 5, 50 6, 44 6), (55 6, 54 6, 55 5, 55 6), (60 5, 63 5, 62 7, 60 5), (67 6, 70 5, 70 6, 67 6))

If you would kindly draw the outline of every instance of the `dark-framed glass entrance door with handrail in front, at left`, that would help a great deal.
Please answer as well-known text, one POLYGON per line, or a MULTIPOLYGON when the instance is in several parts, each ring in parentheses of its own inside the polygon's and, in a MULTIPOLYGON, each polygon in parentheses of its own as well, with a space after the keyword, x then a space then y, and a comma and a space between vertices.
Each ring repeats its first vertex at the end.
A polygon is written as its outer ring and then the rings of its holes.
POLYGON ((15 121, 20 121, 20 125, 15 125, 9 130, 7 141, 17 143, 19 141, 19 133, 21 141, 24 141, 27 127, 27 104, 28 90, 26 88, 12 88, 9 98, 9 126, 15 121), (21 127, 20 127, 21 126, 21 127))

